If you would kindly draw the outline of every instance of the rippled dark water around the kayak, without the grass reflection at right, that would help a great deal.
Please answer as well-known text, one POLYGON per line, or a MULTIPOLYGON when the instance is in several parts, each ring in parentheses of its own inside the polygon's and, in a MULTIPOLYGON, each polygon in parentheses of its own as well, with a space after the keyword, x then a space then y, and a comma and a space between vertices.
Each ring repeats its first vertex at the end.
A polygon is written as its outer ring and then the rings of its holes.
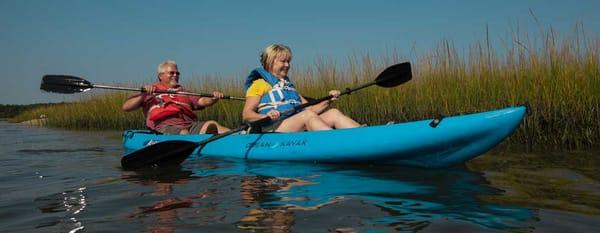
POLYGON ((3 232, 595 232, 598 216, 482 202, 464 168, 186 161, 123 171, 115 133, 0 122, 3 232))

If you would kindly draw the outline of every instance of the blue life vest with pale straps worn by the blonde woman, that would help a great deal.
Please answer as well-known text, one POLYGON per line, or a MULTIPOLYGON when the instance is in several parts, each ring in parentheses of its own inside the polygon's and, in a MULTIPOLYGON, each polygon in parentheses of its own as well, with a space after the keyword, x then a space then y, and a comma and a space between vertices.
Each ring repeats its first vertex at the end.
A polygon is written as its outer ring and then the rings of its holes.
POLYGON ((260 98, 258 113, 266 115, 269 111, 275 109, 282 114, 282 119, 293 115, 295 112, 290 109, 301 105, 302 99, 296 91, 294 84, 290 82, 290 79, 285 77, 283 81, 280 81, 279 78, 275 77, 264 68, 256 68, 250 72, 250 75, 246 78, 244 92, 248 91, 252 82, 259 78, 262 78, 269 83, 269 85, 271 85, 271 90, 260 98), (290 111, 286 112, 288 110, 290 111))

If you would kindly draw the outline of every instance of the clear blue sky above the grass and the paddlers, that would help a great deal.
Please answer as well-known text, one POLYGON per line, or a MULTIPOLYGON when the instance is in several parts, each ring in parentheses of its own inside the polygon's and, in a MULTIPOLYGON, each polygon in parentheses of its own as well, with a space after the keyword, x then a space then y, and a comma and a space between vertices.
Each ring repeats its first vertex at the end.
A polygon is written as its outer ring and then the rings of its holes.
POLYGON ((582 22, 588 37, 600 35, 597 0, 0 0, 0 104, 79 98, 40 91, 44 74, 147 83, 165 59, 179 63, 182 79, 241 82, 271 43, 290 46, 295 66, 394 49, 411 59, 442 39, 459 48, 484 39, 486 26, 494 42, 517 25, 539 33, 530 10, 543 28, 569 34, 582 22))

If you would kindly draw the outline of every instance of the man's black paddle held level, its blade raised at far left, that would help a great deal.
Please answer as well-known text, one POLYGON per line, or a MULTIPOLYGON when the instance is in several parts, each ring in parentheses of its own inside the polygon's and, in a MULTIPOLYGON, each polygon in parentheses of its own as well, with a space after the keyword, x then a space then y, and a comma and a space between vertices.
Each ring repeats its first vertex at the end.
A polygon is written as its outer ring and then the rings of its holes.
MULTIPOLYGON (((63 94, 86 92, 92 88, 123 90, 123 91, 140 91, 140 92, 146 91, 143 87, 142 88, 131 88, 131 87, 114 87, 114 86, 106 86, 106 85, 97 85, 97 84, 92 84, 91 82, 89 82, 83 78, 79 78, 79 77, 75 77, 75 76, 71 76, 71 75, 54 75, 54 74, 44 75, 44 77, 42 77, 42 84, 40 85, 40 89, 42 89, 44 91, 63 93, 63 94)), ((174 91, 156 90, 156 91, 154 91, 154 93, 213 97, 212 94, 191 93, 191 92, 183 92, 183 91, 174 92, 174 91)), ((244 98, 233 97, 233 96, 223 96, 223 99, 244 100, 244 98)))

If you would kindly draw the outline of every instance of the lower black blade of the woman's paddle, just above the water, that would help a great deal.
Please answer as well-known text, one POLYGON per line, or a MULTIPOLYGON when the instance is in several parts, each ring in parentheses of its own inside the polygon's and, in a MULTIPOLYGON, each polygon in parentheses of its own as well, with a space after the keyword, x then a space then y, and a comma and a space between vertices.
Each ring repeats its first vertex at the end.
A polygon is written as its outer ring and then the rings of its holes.
POLYGON ((121 167, 136 170, 148 167, 177 166, 187 159, 200 144, 174 140, 159 142, 127 154, 121 158, 121 167))

